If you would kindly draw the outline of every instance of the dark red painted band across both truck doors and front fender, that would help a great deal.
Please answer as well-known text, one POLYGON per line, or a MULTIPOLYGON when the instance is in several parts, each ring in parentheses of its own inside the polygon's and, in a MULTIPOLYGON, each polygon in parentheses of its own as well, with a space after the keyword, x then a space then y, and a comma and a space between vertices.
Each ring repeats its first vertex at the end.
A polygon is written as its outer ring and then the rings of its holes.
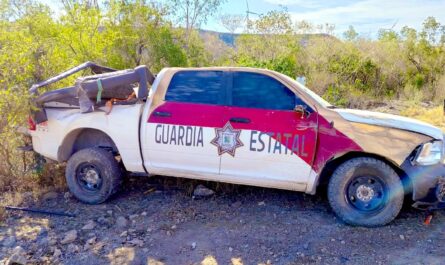
MULTIPOLYGON (((312 151, 307 156, 302 155, 301 152, 298 155, 306 163, 312 165, 316 172, 319 172, 326 162, 336 155, 362 151, 358 144, 332 127, 322 116, 313 113, 309 118, 301 118, 297 115, 294 111, 165 102, 153 111, 147 122, 222 128, 231 118, 247 118, 250 120, 249 123, 231 122, 232 127, 273 133, 271 137, 286 146, 288 150, 293 149, 294 143, 293 139, 290 140, 285 134, 299 135, 301 139, 304 137, 304 147, 300 143, 300 148, 312 151), (309 133, 309 130, 314 130, 314 133, 309 133)), ((249 148, 249 143, 244 144, 249 148)))

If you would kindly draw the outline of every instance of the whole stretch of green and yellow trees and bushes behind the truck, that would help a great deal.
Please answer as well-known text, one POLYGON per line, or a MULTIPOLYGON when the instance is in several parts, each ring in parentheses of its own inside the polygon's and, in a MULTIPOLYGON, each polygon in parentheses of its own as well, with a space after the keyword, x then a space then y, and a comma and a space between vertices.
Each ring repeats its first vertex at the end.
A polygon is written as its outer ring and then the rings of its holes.
MULTIPOLYGON (((351 26, 339 40, 329 35, 333 25, 294 24, 278 10, 246 21, 245 33, 230 47, 196 30, 224 0, 90 2, 63 1, 56 16, 33 0, 0 0, 0 187, 38 179, 28 166, 32 157, 16 151, 24 143, 16 129, 26 125, 28 88, 85 61, 117 69, 145 64, 155 73, 168 66, 267 68, 304 75, 308 87, 340 106, 445 97, 445 25, 433 17, 421 30, 380 30, 377 40, 362 38, 351 26)), ((221 20, 235 31, 243 18, 221 20)))

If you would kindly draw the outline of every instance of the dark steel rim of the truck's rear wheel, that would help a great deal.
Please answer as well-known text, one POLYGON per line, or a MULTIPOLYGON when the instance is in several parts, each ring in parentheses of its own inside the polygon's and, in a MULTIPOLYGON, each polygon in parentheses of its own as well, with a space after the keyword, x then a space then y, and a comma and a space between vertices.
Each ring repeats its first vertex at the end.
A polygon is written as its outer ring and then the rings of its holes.
POLYGON ((77 167, 76 179, 86 191, 98 191, 102 187, 102 175, 99 168, 91 163, 82 163, 77 167))

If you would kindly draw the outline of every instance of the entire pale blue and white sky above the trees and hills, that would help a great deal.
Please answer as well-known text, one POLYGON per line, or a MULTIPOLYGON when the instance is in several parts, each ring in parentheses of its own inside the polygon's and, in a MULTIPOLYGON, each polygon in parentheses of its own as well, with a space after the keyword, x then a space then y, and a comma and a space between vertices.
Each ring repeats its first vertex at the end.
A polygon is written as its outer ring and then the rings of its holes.
MULTIPOLYGON (((57 13, 54 0, 40 0, 50 5, 57 13)), ((165 0, 161 0, 165 1, 165 0)), ((399 30, 403 26, 415 29, 422 27, 428 17, 435 17, 445 24, 445 0, 247 0, 249 10, 258 14, 279 10, 283 6, 292 20, 309 21, 313 24, 335 25, 334 34, 341 36, 352 25, 363 37, 373 38, 379 29, 399 30)), ((246 0, 226 0, 220 14, 246 15, 246 0)), ((253 19, 255 15, 250 15, 253 19)), ((202 28, 227 32, 217 18, 210 18, 202 28)))

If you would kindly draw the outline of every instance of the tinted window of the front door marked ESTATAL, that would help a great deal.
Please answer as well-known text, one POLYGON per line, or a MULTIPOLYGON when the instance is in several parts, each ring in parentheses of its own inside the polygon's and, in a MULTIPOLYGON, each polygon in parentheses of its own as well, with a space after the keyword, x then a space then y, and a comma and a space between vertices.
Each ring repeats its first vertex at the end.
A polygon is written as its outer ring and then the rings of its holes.
POLYGON ((293 110, 300 100, 279 81, 258 73, 234 72, 232 105, 246 108, 293 110))

